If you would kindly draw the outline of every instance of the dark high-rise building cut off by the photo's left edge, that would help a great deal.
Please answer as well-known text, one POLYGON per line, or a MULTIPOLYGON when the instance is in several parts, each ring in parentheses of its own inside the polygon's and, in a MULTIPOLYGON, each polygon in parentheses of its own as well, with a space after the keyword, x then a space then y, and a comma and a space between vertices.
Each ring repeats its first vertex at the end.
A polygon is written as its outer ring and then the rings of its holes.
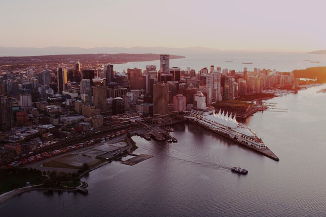
POLYGON ((14 115, 12 107, 12 98, 0 95, 0 131, 10 131, 14 127, 14 115))

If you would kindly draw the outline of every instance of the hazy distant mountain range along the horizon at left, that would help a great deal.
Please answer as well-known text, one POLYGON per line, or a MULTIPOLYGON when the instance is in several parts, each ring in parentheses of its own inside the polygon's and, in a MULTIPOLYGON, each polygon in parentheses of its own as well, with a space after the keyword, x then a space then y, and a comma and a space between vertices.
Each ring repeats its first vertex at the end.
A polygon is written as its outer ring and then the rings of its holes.
POLYGON ((0 47, 0 56, 36 56, 55 54, 213 54, 221 52, 219 49, 206 47, 166 48, 166 47, 46 47, 46 48, 16 48, 0 47))

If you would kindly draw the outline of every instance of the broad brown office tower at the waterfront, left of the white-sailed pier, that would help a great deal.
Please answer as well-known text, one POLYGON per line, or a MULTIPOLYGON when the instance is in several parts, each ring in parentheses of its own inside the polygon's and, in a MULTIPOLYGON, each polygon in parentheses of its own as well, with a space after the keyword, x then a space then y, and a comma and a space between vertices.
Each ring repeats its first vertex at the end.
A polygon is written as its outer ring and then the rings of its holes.
POLYGON ((153 116, 165 118, 169 116, 169 87, 165 83, 153 85, 153 116))

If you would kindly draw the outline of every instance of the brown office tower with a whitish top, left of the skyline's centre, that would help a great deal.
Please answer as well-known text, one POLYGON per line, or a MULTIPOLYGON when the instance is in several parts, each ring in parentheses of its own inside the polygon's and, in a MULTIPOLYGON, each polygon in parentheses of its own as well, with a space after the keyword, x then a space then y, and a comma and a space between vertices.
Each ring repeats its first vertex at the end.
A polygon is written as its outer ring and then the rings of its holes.
POLYGON ((96 77, 93 83, 95 85, 93 86, 93 105, 100 111, 105 111, 107 110, 106 87, 103 86, 103 79, 96 77))

